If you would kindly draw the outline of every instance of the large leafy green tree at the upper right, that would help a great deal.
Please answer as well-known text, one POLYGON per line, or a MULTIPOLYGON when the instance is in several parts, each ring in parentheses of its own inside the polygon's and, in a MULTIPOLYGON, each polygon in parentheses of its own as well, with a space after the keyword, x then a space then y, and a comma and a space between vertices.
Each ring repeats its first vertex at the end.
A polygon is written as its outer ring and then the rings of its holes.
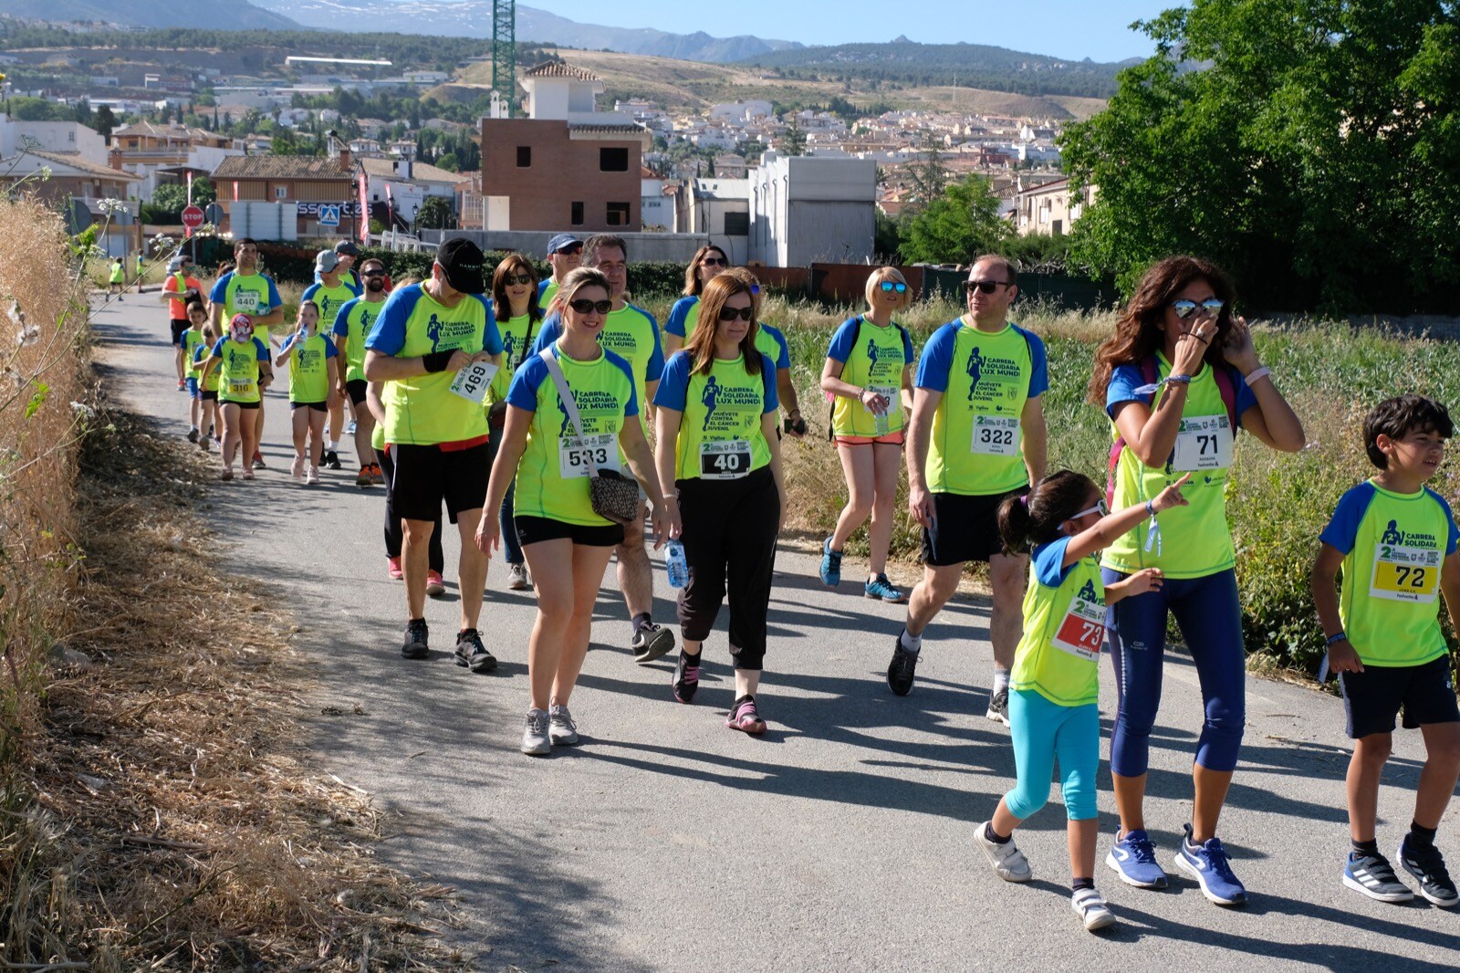
POLYGON ((1454 4, 1193 0, 1140 29, 1156 56, 1061 142, 1098 186, 1077 263, 1129 291, 1190 251, 1263 307, 1460 310, 1454 4))

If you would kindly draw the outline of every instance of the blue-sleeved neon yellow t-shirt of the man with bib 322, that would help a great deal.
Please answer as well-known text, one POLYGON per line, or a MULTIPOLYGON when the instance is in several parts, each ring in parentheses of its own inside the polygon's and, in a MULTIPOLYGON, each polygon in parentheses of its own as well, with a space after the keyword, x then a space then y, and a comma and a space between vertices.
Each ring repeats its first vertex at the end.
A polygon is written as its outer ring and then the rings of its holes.
POLYGON ((923 348, 915 384, 943 393, 929 438, 930 491, 987 497, 1029 482, 1021 416, 1050 387, 1038 336, 1018 324, 990 333, 949 321, 923 348))

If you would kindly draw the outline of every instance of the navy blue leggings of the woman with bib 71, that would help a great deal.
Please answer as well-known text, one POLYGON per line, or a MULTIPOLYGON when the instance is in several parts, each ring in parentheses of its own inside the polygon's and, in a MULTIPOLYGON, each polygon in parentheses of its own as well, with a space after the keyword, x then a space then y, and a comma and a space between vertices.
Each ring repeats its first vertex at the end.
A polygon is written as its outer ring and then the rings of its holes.
MULTIPOLYGON (((1110 586, 1129 576, 1102 568, 1101 577, 1110 586)), ((1177 617, 1177 628, 1202 681, 1206 720, 1202 723, 1196 763, 1207 770, 1234 770, 1242 747, 1247 653, 1237 603, 1237 573, 1226 570, 1206 577, 1167 579, 1159 592, 1121 599, 1105 611, 1118 707, 1110 741, 1110 768, 1121 777, 1139 777, 1149 766, 1150 728, 1161 709, 1168 611, 1177 617)))

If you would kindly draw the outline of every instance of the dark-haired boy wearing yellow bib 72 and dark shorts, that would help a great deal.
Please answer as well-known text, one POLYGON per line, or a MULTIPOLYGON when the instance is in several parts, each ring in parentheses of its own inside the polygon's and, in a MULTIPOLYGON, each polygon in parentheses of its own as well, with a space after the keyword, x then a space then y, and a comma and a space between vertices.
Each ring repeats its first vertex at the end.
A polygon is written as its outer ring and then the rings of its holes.
POLYGON ((1425 487, 1454 434, 1442 405, 1405 394, 1374 406, 1364 446, 1378 476, 1343 494, 1320 535, 1313 600, 1339 674, 1348 733, 1349 836, 1353 850, 1343 884, 1380 901, 1413 898, 1374 837, 1378 780, 1388 760, 1394 716, 1419 728, 1425 767, 1415 817, 1399 844, 1399 863, 1437 906, 1460 901, 1435 847, 1435 830, 1460 777, 1460 707, 1450 681, 1450 653, 1440 631, 1438 593, 1451 621, 1460 612, 1460 558, 1450 505, 1425 487), (1343 568, 1342 602, 1334 592, 1343 568))

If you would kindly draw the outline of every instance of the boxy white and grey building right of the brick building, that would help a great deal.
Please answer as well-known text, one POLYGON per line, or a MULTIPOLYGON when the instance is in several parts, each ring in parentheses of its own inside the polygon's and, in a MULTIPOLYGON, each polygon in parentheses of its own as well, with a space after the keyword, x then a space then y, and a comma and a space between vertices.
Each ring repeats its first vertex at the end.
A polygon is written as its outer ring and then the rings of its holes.
POLYGON ((877 164, 766 152, 749 180, 750 253, 772 267, 873 259, 877 164))

